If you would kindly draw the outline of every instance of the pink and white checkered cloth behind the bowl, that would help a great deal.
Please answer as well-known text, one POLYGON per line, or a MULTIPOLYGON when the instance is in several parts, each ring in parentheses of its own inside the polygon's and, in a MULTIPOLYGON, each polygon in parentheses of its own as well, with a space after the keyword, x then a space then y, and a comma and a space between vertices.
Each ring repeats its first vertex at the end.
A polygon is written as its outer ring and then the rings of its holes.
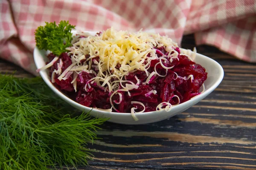
POLYGON ((35 74, 35 29, 60 20, 82 31, 143 28, 178 43, 195 33, 197 45, 256 62, 255 0, 1 0, 0 57, 35 74))

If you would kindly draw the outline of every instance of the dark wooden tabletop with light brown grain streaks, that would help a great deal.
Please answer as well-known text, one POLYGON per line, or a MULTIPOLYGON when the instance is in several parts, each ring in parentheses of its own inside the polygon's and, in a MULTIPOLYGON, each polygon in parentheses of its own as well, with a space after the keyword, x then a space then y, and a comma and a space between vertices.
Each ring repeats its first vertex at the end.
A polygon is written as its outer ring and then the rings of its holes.
MULTIPOLYGON (((192 49, 193 37, 182 47, 192 49)), ((256 64, 242 62, 216 48, 199 53, 219 62, 224 79, 212 94, 170 119, 147 125, 106 122, 88 147, 95 156, 79 169, 229 169, 256 170, 256 64)), ((0 60, 0 71, 32 77, 0 60)))

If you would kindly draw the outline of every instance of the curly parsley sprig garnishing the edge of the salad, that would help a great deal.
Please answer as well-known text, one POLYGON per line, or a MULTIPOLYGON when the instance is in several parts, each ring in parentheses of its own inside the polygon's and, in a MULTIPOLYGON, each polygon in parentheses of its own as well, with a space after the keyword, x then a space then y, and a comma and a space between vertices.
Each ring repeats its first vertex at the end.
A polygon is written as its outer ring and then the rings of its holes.
POLYGON ((61 21, 58 26, 56 23, 47 23, 39 26, 35 30, 35 42, 39 49, 52 51, 53 54, 60 55, 66 52, 66 48, 71 46, 72 26, 68 21, 61 21))

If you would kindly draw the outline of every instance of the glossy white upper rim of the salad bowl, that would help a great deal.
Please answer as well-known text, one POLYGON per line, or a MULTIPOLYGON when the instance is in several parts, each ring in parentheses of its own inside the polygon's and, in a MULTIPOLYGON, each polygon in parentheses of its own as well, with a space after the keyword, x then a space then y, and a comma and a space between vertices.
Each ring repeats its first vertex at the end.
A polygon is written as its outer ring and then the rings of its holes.
MULTIPOLYGON (((187 49, 184 49, 184 48, 180 48, 182 50, 187 50, 187 49)), ((34 57, 34 60, 35 60, 35 65, 37 68, 41 68, 39 67, 40 63, 38 62, 37 60, 37 57, 36 56, 40 56, 40 51, 43 51, 43 50, 39 50, 37 47, 34 48, 34 51, 33 51, 33 57, 34 57), (39 53, 39 54, 37 54, 39 53)), ((223 77, 224 77, 224 70, 223 68, 221 67, 221 65, 216 62, 214 59, 211 59, 207 56, 204 56, 203 54, 199 54, 199 53, 196 53, 196 57, 197 56, 200 56, 200 57, 203 57, 205 59, 208 59, 210 62, 213 62, 215 63, 215 65, 217 66, 216 69, 218 69, 218 71, 220 71, 220 74, 219 74, 219 77, 217 79, 217 81, 208 89, 206 89, 204 91, 204 93, 202 94, 199 94, 197 96, 195 96, 193 99, 189 99, 188 101, 186 102, 183 102, 179 105, 175 105, 175 106, 172 106, 172 110, 174 108, 176 109, 180 109, 180 108, 185 108, 185 106, 189 103, 192 103, 193 101, 200 101, 201 99, 204 99, 204 97, 206 97, 208 94, 210 94, 215 88, 218 87, 218 85, 221 83, 223 77)), ((112 116, 119 116, 119 115, 131 115, 131 113, 122 113, 122 112, 108 112, 108 111, 102 111, 102 110, 98 110, 97 108, 90 108, 90 107, 87 107, 87 106, 84 106, 84 105, 81 105, 79 104, 78 102, 70 99, 68 96, 66 96, 65 94, 63 94, 60 90, 58 90, 57 88, 55 88, 55 86, 52 84, 52 82, 50 81, 50 77, 49 75, 47 74, 46 70, 43 70, 43 71, 40 71, 39 74, 41 75, 41 77, 44 79, 44 82, 49 86, 49 88, 52 89, 52 91, 57 94, 61 99, 63 99, 65 102, 67 102, 68 104, 71 103, 71 105, 74 107, 74 105, 76 105, 77 107, 79 108, 83 108, 83 111, 87 112, 87 111, 97 111, 99 113, 102 113, 102 114, 105 114, 105 115, 108 115, 108 114, 112 114, 112 116)), ((172 111, 171 110, 171 111, 172 111)), ((162 110, 160 111, 150 111, 150 112, 143 112, 143 113, 140 113, 140 116, 148 116, 148 115, 151 115, 153 113, 156 113, 156 112, 161 112, 162 110)))

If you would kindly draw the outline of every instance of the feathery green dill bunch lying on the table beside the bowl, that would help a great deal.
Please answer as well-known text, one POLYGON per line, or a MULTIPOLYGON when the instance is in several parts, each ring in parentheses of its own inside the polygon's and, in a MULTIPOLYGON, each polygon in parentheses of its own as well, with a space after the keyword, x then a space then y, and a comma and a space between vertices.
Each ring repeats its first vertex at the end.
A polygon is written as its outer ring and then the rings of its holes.
POLYGON ((77 114, 41 78, 0 74, 0 170, 46 170, 87 164, 86 142, 106 119, 77 114))

